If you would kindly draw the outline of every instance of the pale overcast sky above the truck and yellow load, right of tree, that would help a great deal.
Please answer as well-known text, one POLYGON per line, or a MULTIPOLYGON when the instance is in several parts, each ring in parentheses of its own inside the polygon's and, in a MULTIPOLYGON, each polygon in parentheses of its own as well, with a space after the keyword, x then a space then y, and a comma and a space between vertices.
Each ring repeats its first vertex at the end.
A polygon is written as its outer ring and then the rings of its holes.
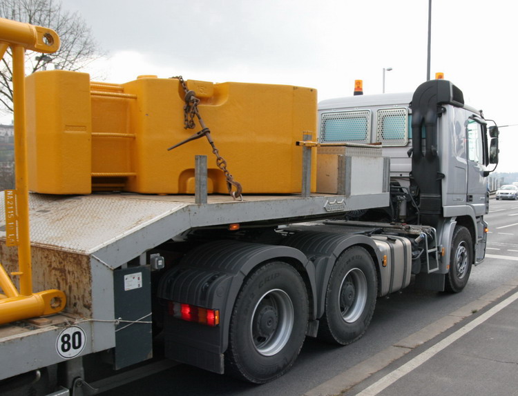
MULTIPOLYGON (((318 99, 413 91, 426 79, 428 0, 63 0, 107 52, 88 70, 114 83, 137 75, 284 83, 318 99)), ((509 0, 432 0, 432 78, 518 124, 517 14, 509 0)), ((518 172, 518 126, 501 128, 501 172, 518 172)))

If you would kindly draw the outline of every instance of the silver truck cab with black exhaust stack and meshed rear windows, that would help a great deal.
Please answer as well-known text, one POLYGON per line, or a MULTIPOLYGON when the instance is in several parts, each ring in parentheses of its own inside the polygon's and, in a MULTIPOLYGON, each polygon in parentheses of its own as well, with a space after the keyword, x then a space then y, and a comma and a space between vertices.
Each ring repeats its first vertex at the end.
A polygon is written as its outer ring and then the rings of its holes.
MULTIPOLYGON (((490 164, 498 162, 498 129, 488 128, 482 112, 464 103, 459 88, 432 80, 414 93, 320 101, 318 120, 320 143, 383 146, 383 156, 390 158, 391 190, 385 218, 437 229, 437 246, 444 253, 433 271, 448 273, 450 255, 455 254, 450 246, 459 226, 470 232, 472 264, 483 260, 486 177, 490 164)), ((380 218, 379 211, 374 217, 380 218)))

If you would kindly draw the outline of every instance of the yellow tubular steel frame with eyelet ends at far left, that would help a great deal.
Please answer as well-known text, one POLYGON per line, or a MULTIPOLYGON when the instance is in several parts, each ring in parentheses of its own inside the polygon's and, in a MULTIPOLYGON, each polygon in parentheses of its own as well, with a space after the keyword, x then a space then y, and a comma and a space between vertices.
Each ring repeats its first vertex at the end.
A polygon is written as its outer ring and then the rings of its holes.
POLYGON ((13 108, 15 110, 15 180, 16 190, 6 191, 6 229, 8 246, 18 246, 18 272, 20 290, 12 283, 0 264, 0 324, 58 313, 65 307, 66 296, 61 290, 44 290, 32 293, 32 263, 29 234, 29 192, 27 167, 27 133, 25 112, 26 50, 52 53, 59 49, 56 32, 41 26, 0 18, 0 59, 8 48, 12 50, 13 108), (9 228, 10 225, 10 228, 9 228), (10 231, 9 231, 10 230, 10 231), (11 234, 10 234, 11 232, 11 234))

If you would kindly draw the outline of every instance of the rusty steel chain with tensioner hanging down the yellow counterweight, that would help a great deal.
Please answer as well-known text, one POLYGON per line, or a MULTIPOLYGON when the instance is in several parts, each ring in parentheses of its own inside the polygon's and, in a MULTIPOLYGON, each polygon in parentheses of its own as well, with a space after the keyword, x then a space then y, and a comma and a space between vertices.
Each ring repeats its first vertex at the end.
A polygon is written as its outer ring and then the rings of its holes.
MULTIPOLYGON (((212 152, 216 157, 216 165, 225 175, 225 179, 227 181, 227 190, 229 190, 229 194, 231 195, 231 197, 233 197, 233 199, 240 198, 242 200, 242 186, 238 181, 233 179, 231 173, 229 172, 229 170, 227 170, 227 161, 220 155, 220 151, 218 150, 218 148, 216 148, 214 141, 212 140, 211 131, 209 130, 209 128, 207 128, 207 126, 205 126, 203 119, 200 116, 200 112, 198 111, 198 103, 200 103, 200 99, 195 97, 194 91, 189 90, 189 88, 187 88, 187 84, 182 76, 171 78, 178 79, 185 92, 184 128, 194 129, 196 125, 194 118, 198 118, 198 121, 200 121, 200 125, 202 126, 202 130, 195 135, 194 139, 198 139, 198 137, 201 137, 202 135, 207 137, 207 140, 209 141, 212 147, 212 152), (233 188, 235 188, 236 190, 233 190, 233 188)), ((186 143, 186 141, 184 142, 186 143)))

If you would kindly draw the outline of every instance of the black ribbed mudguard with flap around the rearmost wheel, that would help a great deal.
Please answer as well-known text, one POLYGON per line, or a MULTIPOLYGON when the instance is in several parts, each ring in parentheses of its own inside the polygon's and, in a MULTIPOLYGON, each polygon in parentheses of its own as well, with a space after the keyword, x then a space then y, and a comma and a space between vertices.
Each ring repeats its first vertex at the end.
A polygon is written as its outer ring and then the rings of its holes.
MULTIPOLYGON (((312 289, 308 290, 308 295, 316 295, 314 266, 296 248, 240 241, 212 241, 187 253, 178 266, 162 277, 157 296, 182 304, 219 309, 220 325, 203 326, 166 314, 166 356, 215 373, 223 373, 223 353, 229 342, 231 313, 244 278, 259 264, 273 260, 284 260, 305 268, 312 289)), ((311 305, 314 306, 314 301, 311 305)))

